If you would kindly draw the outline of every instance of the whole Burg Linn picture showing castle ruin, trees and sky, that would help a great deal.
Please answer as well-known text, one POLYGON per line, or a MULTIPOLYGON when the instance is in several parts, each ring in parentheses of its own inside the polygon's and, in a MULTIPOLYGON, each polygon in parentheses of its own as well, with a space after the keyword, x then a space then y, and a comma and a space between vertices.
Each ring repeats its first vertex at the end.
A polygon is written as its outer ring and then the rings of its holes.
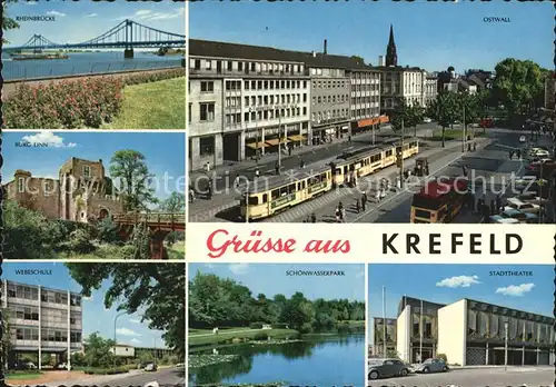
POLYGON ((3 133, 4 259, 183 259, 185 133, 3 133))

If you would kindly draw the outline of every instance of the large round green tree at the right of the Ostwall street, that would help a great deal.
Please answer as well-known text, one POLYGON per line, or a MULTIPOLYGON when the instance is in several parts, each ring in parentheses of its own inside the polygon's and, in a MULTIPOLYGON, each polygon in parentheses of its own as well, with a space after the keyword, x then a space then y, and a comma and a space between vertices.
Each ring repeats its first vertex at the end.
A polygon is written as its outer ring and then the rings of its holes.
POLYGON ((493 95, 503 103, 508 117, 515 118, 535 107, 536 97, 544 90, 542 68, 530 60, 507 58, 495 67, 493 95))

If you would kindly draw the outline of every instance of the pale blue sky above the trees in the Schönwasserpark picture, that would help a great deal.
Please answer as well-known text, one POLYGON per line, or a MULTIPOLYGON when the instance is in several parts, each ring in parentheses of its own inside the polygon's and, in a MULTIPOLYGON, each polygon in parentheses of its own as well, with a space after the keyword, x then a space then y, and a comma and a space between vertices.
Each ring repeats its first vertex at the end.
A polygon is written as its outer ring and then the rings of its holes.
POLYGON ((247 286, 254 297, 259 292, 268 298, 278 294, 291 297, 300 291, 311 300, 347 298, 365 301, 364 265, 190 264, 189 279, 198 271, 234 279, 247 286), (345 276, 288 276, 288 270, 344 270, 345 276))

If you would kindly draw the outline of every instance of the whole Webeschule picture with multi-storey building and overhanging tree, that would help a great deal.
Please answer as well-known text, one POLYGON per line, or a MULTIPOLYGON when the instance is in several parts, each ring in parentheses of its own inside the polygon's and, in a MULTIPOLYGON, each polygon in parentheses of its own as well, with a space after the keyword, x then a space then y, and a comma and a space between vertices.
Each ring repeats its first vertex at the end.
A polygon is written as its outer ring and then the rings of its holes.
POLYGON ((182 383, 183 264, 8 262, 2 269, 10 386, 182 383))

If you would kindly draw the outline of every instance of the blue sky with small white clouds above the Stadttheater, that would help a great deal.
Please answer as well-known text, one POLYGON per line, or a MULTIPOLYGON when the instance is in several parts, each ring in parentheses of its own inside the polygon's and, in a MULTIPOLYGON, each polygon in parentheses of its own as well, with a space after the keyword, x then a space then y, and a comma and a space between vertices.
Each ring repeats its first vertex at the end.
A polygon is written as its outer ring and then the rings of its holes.
POLYGON ((369 265, 368 278, 369 317, 383 317, 383 286, 386 317, 391 318, 397 317, 404 295, 438 304, 471 298, 553 316, 554 266, 549 265, 369 265), (490 276, 503 270, 532 271, 533 276, 490 276))

